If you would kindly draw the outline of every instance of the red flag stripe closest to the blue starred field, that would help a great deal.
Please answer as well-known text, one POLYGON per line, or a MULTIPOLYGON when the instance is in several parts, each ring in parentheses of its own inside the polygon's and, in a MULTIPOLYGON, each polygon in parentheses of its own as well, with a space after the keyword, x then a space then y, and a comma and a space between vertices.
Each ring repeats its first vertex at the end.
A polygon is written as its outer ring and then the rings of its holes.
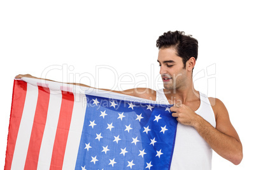
POLYGON ((74 105, 74 95, 71 92, 62 91, 59 122, 55 135, 50 169, 62 169, 66 144, 68 140, 69 126, 74 105))

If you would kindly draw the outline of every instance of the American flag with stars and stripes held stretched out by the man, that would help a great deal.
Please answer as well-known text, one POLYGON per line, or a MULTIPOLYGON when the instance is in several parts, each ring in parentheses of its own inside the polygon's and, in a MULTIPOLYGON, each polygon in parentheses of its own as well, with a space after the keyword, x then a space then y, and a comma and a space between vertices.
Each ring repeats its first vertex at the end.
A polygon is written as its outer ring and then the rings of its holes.
POLYGON ((17 79, 4 169, 169 169, 171 105, 17 79))

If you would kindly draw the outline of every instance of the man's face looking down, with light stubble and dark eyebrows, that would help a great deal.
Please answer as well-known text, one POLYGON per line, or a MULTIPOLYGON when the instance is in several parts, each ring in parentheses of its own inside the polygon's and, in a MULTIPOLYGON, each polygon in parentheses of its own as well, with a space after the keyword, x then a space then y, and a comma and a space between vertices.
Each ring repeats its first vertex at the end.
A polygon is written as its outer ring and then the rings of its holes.
POLYGON ((187 70, 184 69, 182 58, 176 54, 176 49, 172 47, 159 49, 157 62, 165 89, 185 88, 187 84, 187 70))

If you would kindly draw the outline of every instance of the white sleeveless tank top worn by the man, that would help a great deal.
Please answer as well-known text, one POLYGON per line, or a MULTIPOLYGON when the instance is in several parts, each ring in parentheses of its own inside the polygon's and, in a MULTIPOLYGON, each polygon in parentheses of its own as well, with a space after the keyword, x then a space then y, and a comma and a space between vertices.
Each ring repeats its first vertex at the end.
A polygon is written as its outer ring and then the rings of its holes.
MULTIPOLYGON (((156 101, 160 104, 169 104, 163 89, 157 91, 156 101)), ((196 114, 201 115, 215 128, 215 115, 208 97, 200 93, 200 101, 196 114)), ((211 157, 211 147, 196 129, 178 123, 171 170, 210 170, 211 157)))

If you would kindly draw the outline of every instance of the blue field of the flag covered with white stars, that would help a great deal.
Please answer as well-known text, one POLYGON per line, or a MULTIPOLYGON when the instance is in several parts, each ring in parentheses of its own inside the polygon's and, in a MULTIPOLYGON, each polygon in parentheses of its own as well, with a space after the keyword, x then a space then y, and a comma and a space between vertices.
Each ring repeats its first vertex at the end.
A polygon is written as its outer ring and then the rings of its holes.
POLYGON ((177 127, 169 107, 87 95, 76 169, 169 169, 177 127))

